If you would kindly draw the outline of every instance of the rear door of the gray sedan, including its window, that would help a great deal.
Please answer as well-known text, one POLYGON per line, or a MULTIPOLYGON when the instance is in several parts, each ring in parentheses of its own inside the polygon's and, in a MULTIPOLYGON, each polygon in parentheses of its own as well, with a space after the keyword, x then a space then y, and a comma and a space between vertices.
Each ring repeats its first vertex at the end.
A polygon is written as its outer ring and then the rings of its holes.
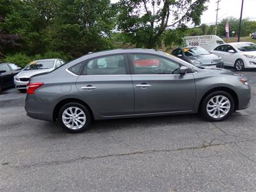
POLYGON ((101 56, 86 61, 76 87, 81 99, 102 116, 134 113, 131 74, 124 54, 101 56))

